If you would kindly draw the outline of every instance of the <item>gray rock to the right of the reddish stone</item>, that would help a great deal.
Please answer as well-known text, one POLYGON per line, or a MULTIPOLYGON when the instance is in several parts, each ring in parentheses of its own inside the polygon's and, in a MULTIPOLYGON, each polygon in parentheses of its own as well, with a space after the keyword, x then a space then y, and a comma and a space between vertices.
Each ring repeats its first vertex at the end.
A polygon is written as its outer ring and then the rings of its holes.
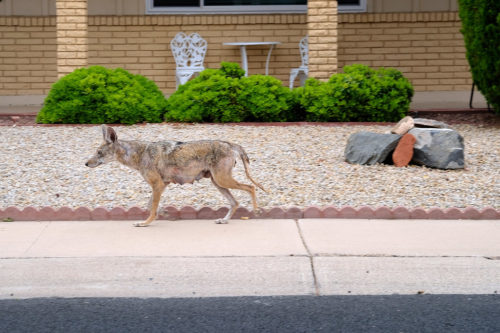
POLYGON ((413 146, 413 163, 438 169, 464 168, 464 139, 456 131, 413 128, 408 133, 417 139, 413 146))

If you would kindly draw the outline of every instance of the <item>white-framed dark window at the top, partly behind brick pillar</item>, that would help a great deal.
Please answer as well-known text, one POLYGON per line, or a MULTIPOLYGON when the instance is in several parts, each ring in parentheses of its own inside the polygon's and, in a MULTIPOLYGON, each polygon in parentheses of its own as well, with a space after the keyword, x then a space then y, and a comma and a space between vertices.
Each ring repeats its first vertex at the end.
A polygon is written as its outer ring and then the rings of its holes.
MULTIPOLYGON (((339 12, 365 12, 366 0, 338 0, 339 12)), ((307 0, 146 0, 147 14, 305 13, 307 0)))

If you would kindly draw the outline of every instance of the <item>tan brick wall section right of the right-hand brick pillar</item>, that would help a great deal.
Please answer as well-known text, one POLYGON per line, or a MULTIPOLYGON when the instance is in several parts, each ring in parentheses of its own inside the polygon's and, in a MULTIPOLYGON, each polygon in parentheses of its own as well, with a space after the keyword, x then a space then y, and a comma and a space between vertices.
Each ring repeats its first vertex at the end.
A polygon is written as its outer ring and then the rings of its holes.
POLYGON ((472 78, 456 12, 341 15, 339 67, 394 67, 417 91, 469 90, 472 78))

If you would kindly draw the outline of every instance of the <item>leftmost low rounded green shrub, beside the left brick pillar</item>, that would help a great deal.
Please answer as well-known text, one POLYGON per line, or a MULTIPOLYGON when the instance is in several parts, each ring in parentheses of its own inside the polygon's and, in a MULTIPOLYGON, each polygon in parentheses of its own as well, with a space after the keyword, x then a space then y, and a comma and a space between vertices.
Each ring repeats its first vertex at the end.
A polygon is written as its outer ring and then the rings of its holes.
POLYGON ((124 69, 80 68, 50 90, 38 123, 161 122, 166 100, 156 84, 124 69))

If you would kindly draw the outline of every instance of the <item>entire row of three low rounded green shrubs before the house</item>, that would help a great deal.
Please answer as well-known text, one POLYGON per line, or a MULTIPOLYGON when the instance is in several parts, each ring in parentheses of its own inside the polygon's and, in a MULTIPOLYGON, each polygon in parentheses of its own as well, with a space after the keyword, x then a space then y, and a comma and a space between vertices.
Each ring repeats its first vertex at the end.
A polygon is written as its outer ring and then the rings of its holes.
POLYGON ((290 90, 272 76, 244 76, 235 63, 206 69, 168 100, 154 82, 123 69, 92 66, 56 82, 41 123, 398 121, 413 88, 395 69, 345 66, 328 82, 290 90))

